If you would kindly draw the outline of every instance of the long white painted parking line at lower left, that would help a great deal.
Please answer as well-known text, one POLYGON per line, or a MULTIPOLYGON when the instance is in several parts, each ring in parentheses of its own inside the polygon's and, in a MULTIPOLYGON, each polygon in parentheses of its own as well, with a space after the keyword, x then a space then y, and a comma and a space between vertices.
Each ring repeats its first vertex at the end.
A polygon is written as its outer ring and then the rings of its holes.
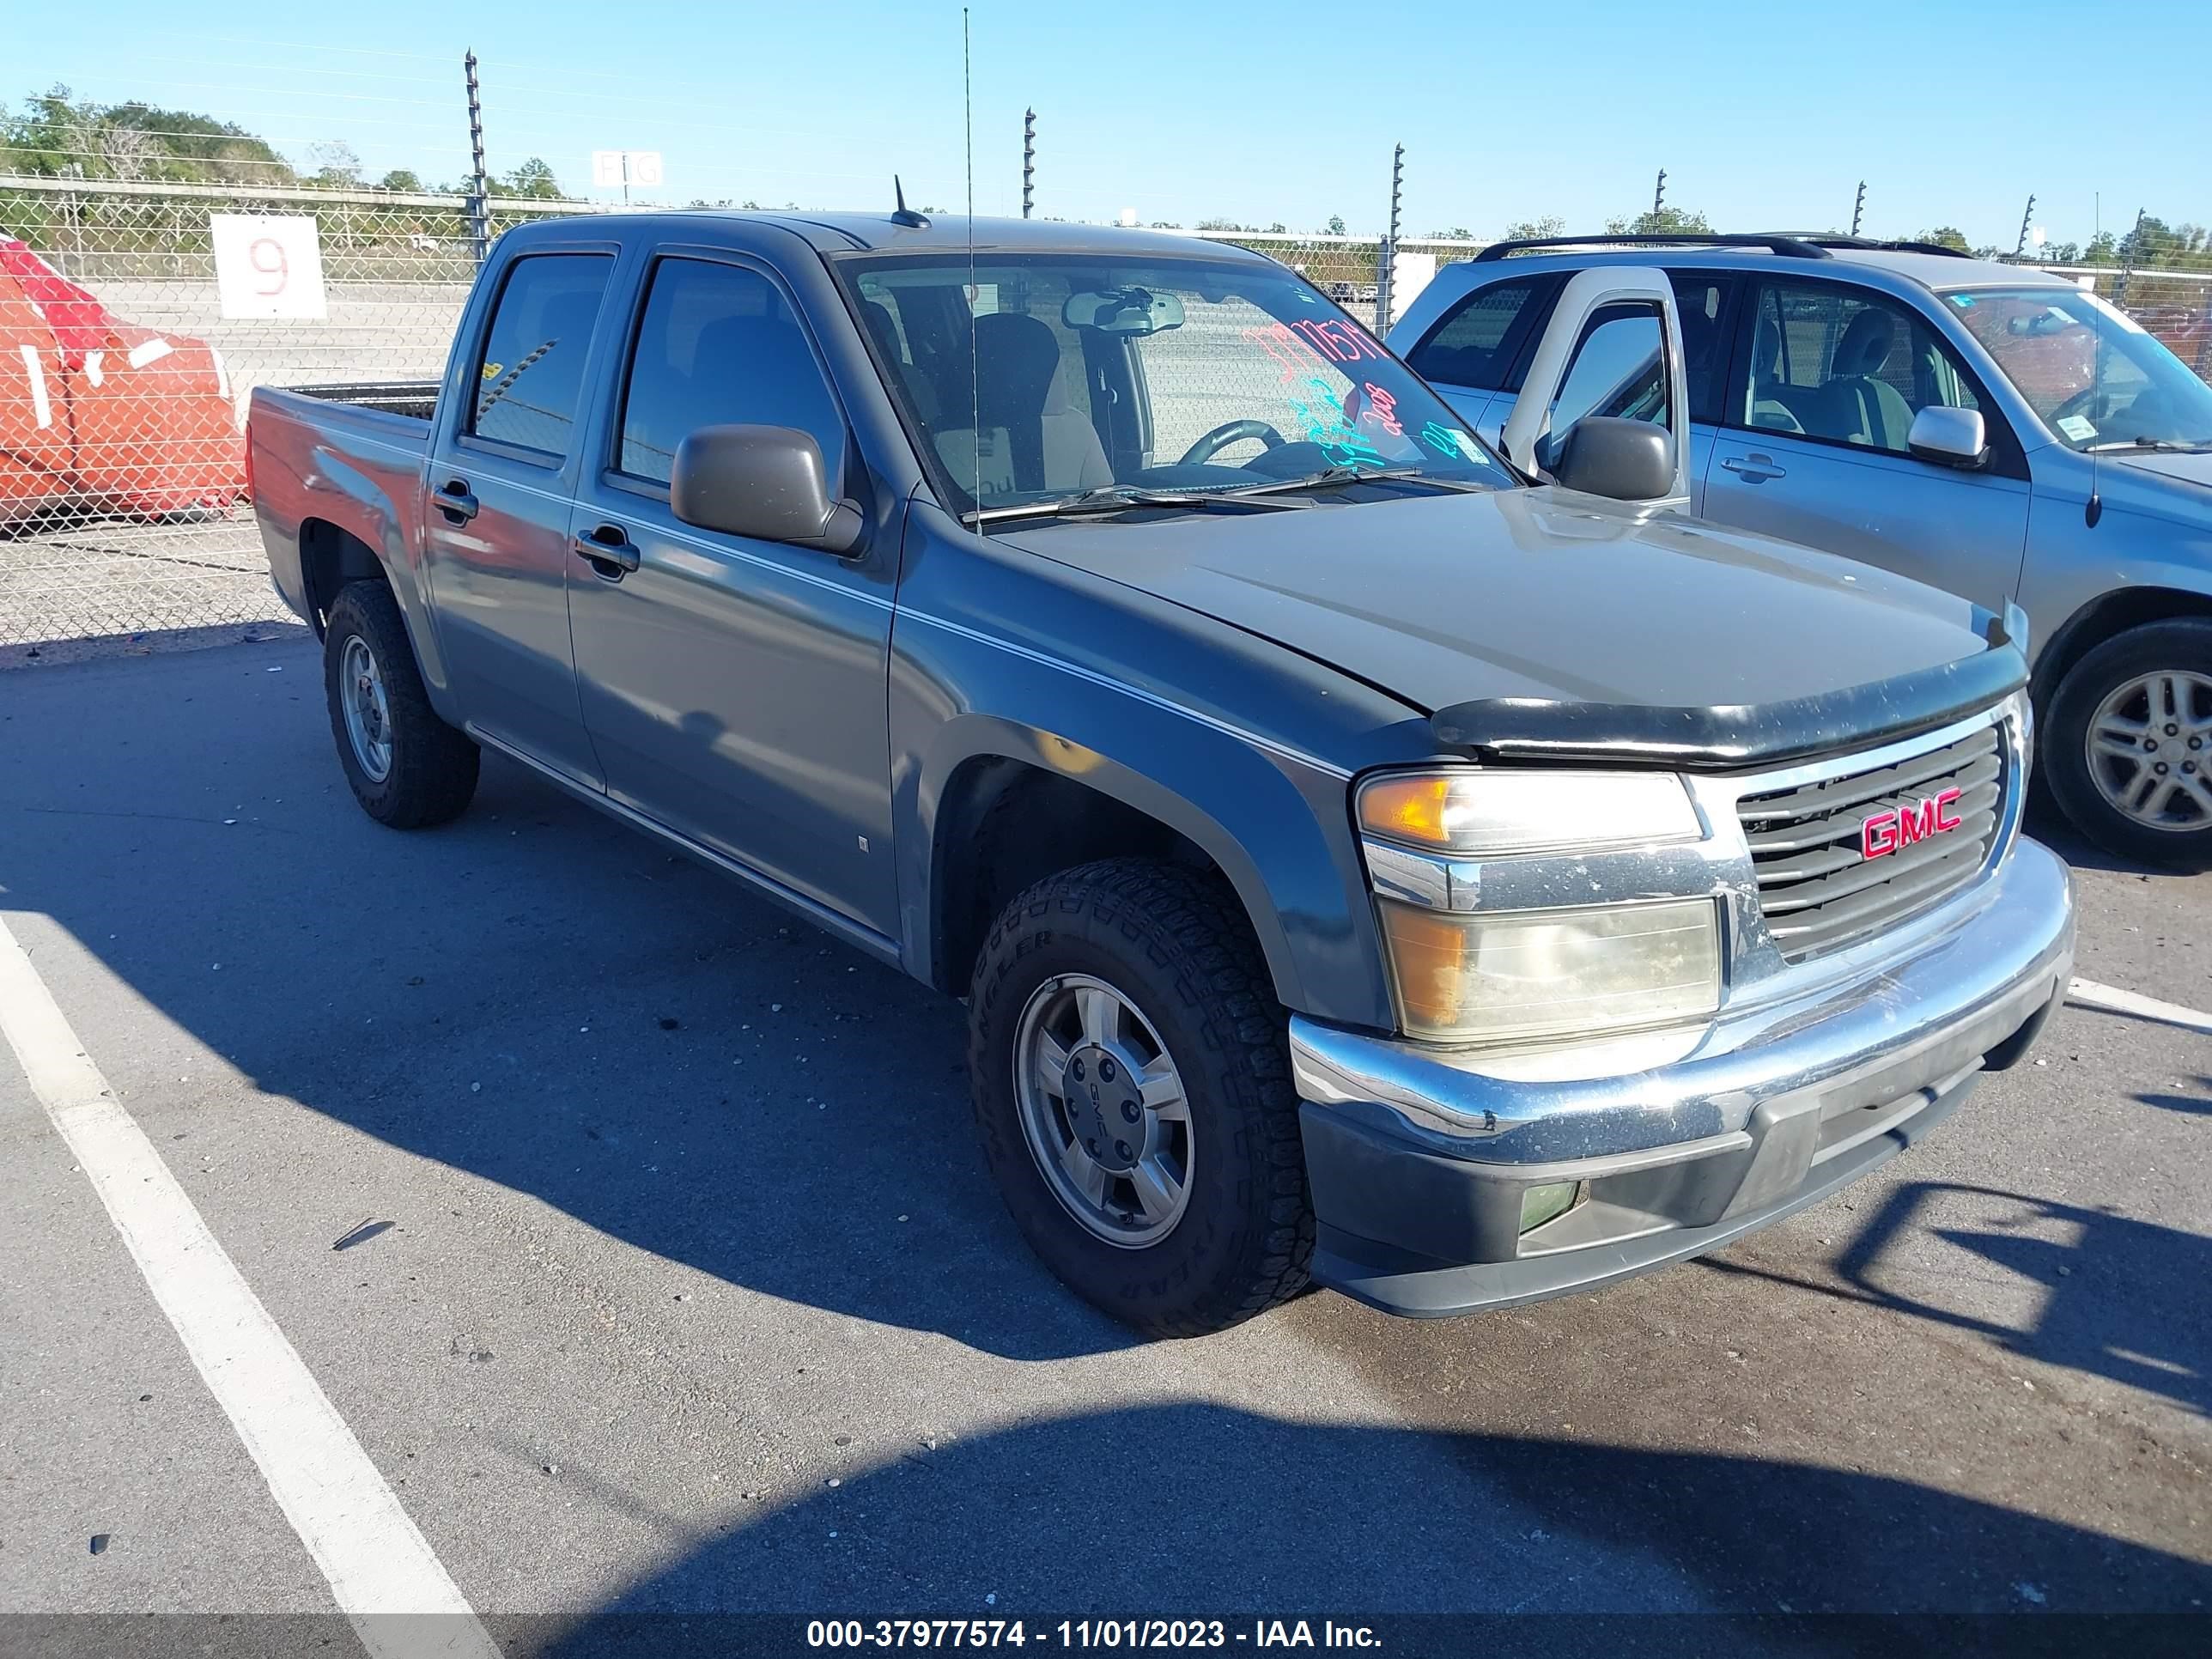
POLYGON ((361 1644, 376 1659, 498 1659, 354 1431, 115 1102, 4 918, 0 1031, 361 1644))

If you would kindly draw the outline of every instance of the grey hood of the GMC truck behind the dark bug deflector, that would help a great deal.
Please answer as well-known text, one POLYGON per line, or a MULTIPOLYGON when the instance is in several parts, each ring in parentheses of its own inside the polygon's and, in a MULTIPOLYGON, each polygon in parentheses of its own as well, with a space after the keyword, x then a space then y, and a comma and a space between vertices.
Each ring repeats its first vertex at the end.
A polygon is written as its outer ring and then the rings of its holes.
POLYGON ((1823 699, 1984 650, 1986 617, 1966 599, 1553 489, 998 535, 1298 650, 1425 714, 1473 699, 1823 699))

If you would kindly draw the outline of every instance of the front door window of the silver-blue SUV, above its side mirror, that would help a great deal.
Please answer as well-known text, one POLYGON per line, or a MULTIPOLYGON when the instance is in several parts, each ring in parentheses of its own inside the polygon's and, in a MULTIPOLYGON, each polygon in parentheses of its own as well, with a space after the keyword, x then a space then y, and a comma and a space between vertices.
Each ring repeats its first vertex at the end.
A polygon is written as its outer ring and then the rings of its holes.
POLYGON ((1763 283, 1750 378, 1730 425, 1907 453, 1929 405, 1982 407, 1951 347, 1911 307, 1836 283, 1763 283))

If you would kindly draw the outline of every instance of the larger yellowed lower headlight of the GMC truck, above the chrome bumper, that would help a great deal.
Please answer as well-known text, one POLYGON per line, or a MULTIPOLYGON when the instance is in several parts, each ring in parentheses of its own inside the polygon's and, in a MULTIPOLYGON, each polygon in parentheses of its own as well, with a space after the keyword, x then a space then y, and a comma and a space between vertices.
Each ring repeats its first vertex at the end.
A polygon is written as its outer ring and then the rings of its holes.
POLYGON ((1721 1006, 1712 898, 1495 914, 1385 898, 1378 909, 1409 1037, 1542 1042, 1721 1006))

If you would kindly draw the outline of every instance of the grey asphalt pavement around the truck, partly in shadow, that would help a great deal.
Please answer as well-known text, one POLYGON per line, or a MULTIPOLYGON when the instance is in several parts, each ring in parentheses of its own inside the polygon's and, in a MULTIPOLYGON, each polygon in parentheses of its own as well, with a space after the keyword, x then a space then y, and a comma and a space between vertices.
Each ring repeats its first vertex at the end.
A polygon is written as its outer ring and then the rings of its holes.
MULTIPOLYGON (((2053 841, 2077 971, 2212 1009, 2212 878, 2053 841)), ((2181 1024, 2068 1006, 1703 1263, 1141 1345, 958 1004, 502 761, 380 830, 296 639, 0 675, 0 918, 487 1621, 2212 1604, 2181 1024)), ((73 1164, 0 1046, 0 1610, 327 1613, 73 1164)))

